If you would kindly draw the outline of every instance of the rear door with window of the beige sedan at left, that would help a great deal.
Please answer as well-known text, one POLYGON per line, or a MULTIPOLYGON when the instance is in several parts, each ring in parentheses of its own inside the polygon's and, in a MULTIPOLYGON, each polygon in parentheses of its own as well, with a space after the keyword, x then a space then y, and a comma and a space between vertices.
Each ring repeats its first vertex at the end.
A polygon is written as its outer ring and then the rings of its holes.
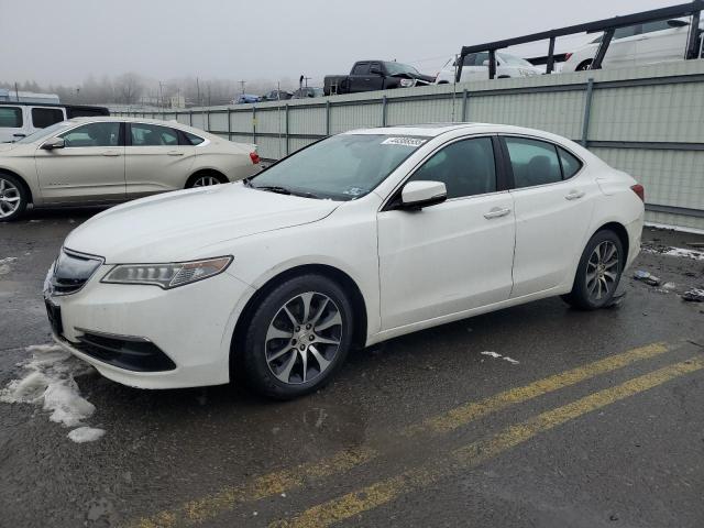
POLYGON ((183 189, 196 148, 178 130, 151 123, 127 123, 128 198, 183 189))

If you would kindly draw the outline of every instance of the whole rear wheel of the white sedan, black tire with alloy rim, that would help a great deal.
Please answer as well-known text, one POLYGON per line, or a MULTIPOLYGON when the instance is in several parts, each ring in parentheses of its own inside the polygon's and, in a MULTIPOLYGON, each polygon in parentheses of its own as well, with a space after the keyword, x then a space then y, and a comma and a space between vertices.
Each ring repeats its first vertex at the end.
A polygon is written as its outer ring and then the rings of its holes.
POLYGON ((584 248, 572 292, 562 299, 580 310, 608 306, 618 288, 624 264, 624 248, 618 235, 608 229, 598 231, 584 248))

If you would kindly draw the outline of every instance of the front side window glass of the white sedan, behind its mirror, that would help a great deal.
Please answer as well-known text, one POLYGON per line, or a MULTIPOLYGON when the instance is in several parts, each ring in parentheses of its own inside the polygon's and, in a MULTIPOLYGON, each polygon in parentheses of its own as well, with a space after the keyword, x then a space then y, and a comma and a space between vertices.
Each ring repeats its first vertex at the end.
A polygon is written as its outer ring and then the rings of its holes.
POLYGON ((409 182, 442 182, 448 198, 496 191, 496 165, 491 138, 458 141, 433 154, 409 182))

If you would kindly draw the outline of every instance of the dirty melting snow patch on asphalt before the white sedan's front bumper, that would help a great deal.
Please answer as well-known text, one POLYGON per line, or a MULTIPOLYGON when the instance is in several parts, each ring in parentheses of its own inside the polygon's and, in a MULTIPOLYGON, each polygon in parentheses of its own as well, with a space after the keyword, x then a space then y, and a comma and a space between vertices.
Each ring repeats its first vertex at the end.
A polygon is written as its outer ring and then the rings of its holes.
MULTIPOLYGON (((65 427, 82 426, 82 421, 92 416, 96 407, 80 395, 74 376, 91 372, 92 367, 55 344, 32 345, 26 351, 32 356, 19 366, 24 367, 28 373, 0 389, 0 402, 41 405, 44 410, 51 411, 50 420, 65 427)), ((84 438, 85 435, 86 431, 77 432, 76 438, 84 438)), ((102 433, 95 439, 100 436, 102 433)))

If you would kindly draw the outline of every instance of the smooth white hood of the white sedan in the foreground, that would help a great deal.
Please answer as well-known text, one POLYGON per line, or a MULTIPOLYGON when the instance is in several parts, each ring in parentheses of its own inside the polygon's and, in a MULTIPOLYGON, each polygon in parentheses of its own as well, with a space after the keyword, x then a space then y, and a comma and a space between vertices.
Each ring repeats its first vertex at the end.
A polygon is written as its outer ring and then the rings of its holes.
POLYGON ((64 246, 107 264, 219 256, 207 254, 208 246, 315 222, 339 205, 240 183, 179 190, 108 209, 74 230, 64 246))

